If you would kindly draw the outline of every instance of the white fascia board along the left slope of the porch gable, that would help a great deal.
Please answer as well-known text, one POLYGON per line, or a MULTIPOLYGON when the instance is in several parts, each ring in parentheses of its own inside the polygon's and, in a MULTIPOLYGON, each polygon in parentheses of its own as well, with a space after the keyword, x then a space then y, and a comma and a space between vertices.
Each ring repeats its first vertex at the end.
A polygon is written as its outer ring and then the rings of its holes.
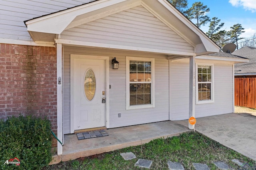
POLYGON ((126 0, 100 0, 64 11, 49 14, 26 22, 28 31, 61 34, 76 16, 102 9, 126 0), (49 29, 50 28, 50 29, 49 29))

